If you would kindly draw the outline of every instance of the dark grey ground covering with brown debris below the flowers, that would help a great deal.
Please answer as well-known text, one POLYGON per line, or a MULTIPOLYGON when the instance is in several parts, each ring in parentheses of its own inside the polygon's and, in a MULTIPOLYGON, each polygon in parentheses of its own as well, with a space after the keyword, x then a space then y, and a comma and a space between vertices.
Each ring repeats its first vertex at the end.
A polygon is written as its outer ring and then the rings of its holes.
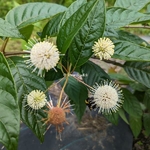
POLYGON ((132 150, 131 130, 121 119, 114 126, 95 112, 94 115, 87 112, 80 124, 72 115, 68 116, 68 122, 69 125, 64 125, 62 141, 56 139, 55 127, 51 126, 42 144, 22 125, 18 150, 132 150))

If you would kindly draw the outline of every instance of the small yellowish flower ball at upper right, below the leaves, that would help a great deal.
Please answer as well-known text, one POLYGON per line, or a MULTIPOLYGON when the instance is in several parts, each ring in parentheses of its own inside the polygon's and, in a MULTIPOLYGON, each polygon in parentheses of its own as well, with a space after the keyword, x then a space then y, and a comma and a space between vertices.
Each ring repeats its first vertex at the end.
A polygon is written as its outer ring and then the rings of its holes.
POLYGON ((109 59, 114 54, 114 44, 109 38, 100 38, 92 47, 94 55, 100 60, 109 59))

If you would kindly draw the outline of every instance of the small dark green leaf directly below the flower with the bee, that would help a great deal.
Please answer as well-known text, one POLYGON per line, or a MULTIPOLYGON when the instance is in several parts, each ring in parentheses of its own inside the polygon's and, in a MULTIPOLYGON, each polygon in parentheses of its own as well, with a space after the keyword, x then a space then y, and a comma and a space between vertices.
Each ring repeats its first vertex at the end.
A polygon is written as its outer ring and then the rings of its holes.
POLYGON ((105 118, 114 125, 118 125, 119 115, 118 113, 113 113, 111 115, 104 115, 105 118))

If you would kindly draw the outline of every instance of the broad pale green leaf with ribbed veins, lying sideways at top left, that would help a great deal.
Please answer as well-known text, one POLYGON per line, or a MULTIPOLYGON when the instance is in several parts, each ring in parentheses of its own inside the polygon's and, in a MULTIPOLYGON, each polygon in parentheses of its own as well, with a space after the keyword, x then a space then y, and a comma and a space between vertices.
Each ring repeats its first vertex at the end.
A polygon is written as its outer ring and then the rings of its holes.
POLYGON ((27 3, 10 10, 5 19, 10 24, 17 26, 18 29, 21 29, 65 10, 66 8, 64 6, 53 3, 27 3))

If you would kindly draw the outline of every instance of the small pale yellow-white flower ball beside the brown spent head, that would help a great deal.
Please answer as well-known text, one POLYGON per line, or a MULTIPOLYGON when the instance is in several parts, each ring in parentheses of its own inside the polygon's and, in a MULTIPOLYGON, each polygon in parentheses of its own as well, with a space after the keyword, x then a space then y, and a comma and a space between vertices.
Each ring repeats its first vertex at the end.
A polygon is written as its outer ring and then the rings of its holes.
POLYGON ((32 109, 38 110, 46 105, 46 95, 39 90, 33 90, 27 95, 27 104, 32 109))

